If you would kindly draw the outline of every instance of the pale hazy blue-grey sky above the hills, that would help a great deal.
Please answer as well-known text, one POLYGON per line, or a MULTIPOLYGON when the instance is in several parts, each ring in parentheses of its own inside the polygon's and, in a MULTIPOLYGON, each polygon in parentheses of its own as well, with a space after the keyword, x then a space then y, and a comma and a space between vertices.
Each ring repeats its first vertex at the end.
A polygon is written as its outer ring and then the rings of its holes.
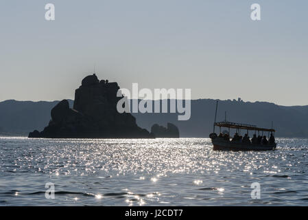
POLYGON ((96 65, 120 87, 308 104, 308 1, 0 1, 0 101, 74 98, 96 65), (54 3, 56 20, 45 20, 54 3), (250 5, 261 5, 261 21, 250 5))

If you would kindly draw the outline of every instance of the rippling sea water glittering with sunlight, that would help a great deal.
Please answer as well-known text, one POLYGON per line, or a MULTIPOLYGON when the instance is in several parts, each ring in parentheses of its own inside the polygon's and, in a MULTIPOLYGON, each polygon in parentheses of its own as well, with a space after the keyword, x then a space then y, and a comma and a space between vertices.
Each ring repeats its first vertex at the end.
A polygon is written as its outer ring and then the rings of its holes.
POLYGON ((308 140, 277 141, 276 151, 230 152, 200 138, 0 137, 0 206, 307 206, 308 140))

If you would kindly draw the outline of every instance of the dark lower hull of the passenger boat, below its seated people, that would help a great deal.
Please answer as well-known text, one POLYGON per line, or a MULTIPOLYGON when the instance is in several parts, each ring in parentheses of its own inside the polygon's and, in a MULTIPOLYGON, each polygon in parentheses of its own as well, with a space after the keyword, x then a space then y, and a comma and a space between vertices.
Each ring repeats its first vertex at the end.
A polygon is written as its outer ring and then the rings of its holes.
POLYGON ((228 140, 215 138, 211 139, 214 151, 274 151, 275 144, 244 144, 241 142, 230 142, 228 140))

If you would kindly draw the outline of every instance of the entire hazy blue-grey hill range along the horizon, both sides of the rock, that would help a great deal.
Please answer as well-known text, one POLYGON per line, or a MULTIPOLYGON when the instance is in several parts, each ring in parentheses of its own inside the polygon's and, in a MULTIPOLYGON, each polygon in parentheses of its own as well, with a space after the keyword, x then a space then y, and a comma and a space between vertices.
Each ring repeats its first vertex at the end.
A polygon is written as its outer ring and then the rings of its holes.
MULTIPOLYGON (((6 100, 0 102, 0 133, 27 135, 34 129, 43 130, 50 120, 54 102, 22 102, 6 100)), ((73 100, 69 100, 73 105, 73 100)), ((224 100, 219 102, 217 121, 227 120, 270 127, 274 122, 277 137, 308 137, 308 106, 284 107, 268 102, 243 102, 224 100)), ((180 137, 209 137, 213 130, 215 100, 191 101, 191 119, 178 121, 177 113, 133 113, 137 124, 148 131, 153 124, 166 126, 171 122, 178 126, 180 137)))

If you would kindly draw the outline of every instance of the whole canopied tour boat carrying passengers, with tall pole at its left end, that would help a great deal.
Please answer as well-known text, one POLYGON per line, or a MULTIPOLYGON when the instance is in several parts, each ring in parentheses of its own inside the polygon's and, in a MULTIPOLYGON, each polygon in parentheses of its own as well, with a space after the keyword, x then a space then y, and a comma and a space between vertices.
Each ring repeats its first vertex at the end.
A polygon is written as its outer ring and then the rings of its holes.
POLYGON ((213 133, 209 135, 214 151, 272 151, 276 148, 274 129, 263 129, 252 124, 228 122, 226 118, 224 122, 216 122, 217 104, 218 101, 216 103, 213 133), (215 133, 215 126, 220 128, 220 135, 215 133), (224 131, 224 135, 222 134, 222 128, 228 129, 228 131, 224 131), (230 140, 230 129, 236 129, 235 136, 232 140, 230 140), (238 133, 241 133, 241 130, 247 131, 247 135, 244 138, 238 135, 238 133), (249 131, 254 132, 254 137, 251 141, 248 137, 249 131), (262 134, 261 136, 260 133, 262 134), (266 139, 266 133, 268 133, 269 140, 266 139))

